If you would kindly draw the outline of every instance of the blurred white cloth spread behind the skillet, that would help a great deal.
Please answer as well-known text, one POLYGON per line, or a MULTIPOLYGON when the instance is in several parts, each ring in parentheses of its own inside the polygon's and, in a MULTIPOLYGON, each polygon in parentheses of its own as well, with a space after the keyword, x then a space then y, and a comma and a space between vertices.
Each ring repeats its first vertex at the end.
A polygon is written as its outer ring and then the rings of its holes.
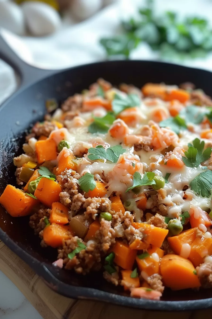
MULTIPOLYGON (((92 18, 78 24, 64 20, 61 29, 48 37, 18 37, 4 32, 4 37, 22 58, 34 66, 46 69, 63 69, 74 65, 91 63, 105 59, 105 52, 99 45, 102 36, 119 33, 120 19, 136 11, 141 0, 119 0, 92 18)), ((212 3, 209 0, 155 0, 156 11, 178 11, 180 15, 198 15, 211 21, 212 3)), ((146 44, 140 44, 131 55, 132 59, 158 59, 146 44)), ((189 66, 212 70, 212 54, 207 59, 186 60, 181 62, 189 66)), ((14 72, 0 61, 0 103, 16 87, 14 72)))

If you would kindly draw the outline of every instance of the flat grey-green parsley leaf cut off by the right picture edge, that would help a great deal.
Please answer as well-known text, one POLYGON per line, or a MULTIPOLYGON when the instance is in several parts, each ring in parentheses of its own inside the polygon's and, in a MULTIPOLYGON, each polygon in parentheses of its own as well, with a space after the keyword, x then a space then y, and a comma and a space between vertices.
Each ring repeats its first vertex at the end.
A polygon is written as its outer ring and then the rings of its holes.
POLYGON ((207 171, 200 173, 190 182, 189 186, 196 195, 201 194, 202 197, 209 197, 212 189, 212 171, 207 169, 207 171))

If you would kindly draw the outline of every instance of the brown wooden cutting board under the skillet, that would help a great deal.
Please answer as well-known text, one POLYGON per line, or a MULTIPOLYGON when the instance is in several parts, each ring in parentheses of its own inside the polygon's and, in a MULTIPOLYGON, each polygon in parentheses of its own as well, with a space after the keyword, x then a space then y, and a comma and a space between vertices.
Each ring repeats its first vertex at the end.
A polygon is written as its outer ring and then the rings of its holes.
POLYGON ((17 286, 44 319, 202 319, 212 310, 158 312, 120 307, 104 302, 74 300, 51 290, 44 281, 2 241, 0 270, 17 286))

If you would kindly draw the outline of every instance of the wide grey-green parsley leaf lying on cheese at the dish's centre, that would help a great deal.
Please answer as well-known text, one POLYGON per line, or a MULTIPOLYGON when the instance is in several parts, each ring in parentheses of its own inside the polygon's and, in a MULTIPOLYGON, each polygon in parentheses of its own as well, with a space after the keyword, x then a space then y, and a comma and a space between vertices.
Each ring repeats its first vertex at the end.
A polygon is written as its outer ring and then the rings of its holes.
POLYGON ((126 152, 126 150, 122 148, 121 145, 108 147, 106 150, 102 145, 98 145, 95 148, 89 148, 88 152, 91 153, 88 155, 88 158, 91 160, 107 159, 113 163, 116 163, 120 154, 123 154, 126 152))

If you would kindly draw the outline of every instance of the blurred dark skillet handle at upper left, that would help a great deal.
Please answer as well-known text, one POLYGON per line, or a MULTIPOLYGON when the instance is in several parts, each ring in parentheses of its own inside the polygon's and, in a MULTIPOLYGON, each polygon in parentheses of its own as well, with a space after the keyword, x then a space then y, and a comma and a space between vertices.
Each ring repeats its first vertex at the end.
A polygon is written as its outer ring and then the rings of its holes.
POLYGON ((4 34, 4 29, 0 29, 0 58, 10 64, 20 76, 21 83, 19 87, 30 85, 32 82, 35 83, 42 78, 56 73, 56 70, 39 69, 24 62, 16 55, 13 49, 10 48, 2 34, 4 34))

